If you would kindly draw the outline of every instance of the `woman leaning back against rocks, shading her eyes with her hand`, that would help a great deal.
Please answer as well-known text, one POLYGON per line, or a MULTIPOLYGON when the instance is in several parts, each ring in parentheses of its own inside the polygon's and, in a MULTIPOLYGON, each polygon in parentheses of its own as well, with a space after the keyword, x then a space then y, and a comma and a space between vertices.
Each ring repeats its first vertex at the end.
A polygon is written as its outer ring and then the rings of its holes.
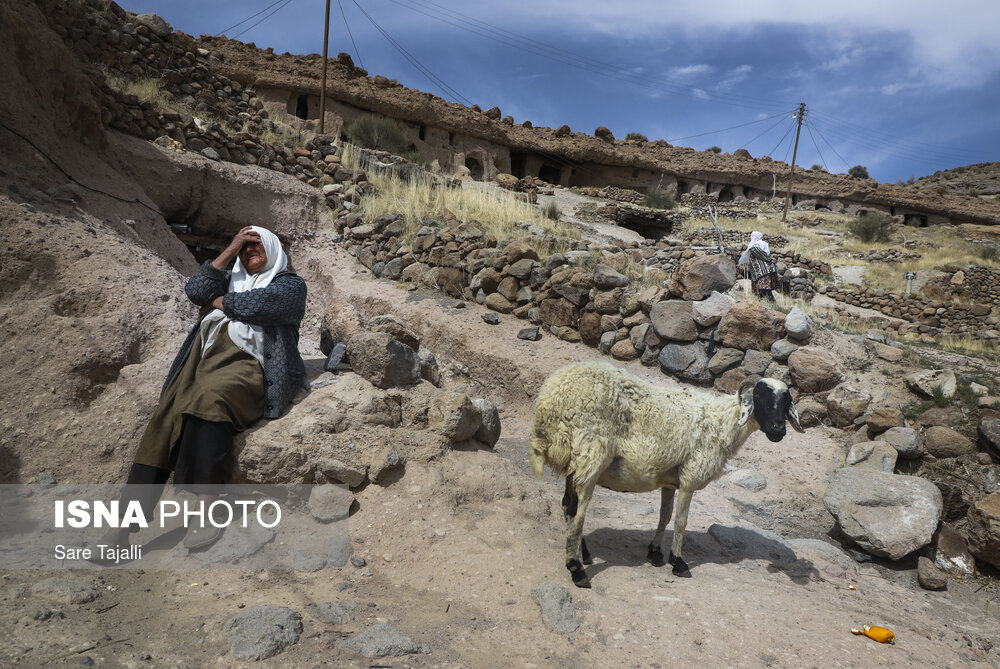
MULTIPOLYGON (((306 284, 288 270, 272 232, 240 230, 219 257, 198 268, 184 291, 202 308, 201 317, 167 373, 125 491, 126 501, 142 504, 147 520, 171 469, 175 484, 210 501, 199 486, 223 482, 234 432, 262 416, 281 415, 305 376, 298 340, 306 284)), ((220 534, 212 524, 189 528, 184 545, 201 548, 220 534)), ((103 541, 128 545, 128 530, 113 530, 103 541)))

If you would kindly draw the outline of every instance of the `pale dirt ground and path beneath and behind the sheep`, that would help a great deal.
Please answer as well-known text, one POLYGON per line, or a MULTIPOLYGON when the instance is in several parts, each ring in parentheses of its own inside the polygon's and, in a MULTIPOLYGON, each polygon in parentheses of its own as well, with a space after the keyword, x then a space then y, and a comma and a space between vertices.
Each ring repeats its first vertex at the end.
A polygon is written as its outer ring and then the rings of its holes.
MULTIPOLYGON (((461 363, 464 379, 453 377, 453 385, 464 380, 501 408, 496 448, 409 463, 391 485, 357 491, 350 531, 364 569, 78 570, 70 574, 100 591, 79 605, 31 592, 52 573, 3 573, 0 665, 1000 666, 992 650, 1000 642, 1000 600, 986 581, 952 580, 947 591, 928 592, 916 583, 915 558, 855 563, 800 548, 790 559, 777 542, 747 554, 710 533, 713 525, 739 526, 833 545, 833 519, 822 497, 843 462, 846 435, 829 428, 790 433, 779 444, 758 433, 731 464, 763 473, 763 490, 746 490, 723 476, 695 495, 685 543, 690 579, 645 560, 656 493, 598 491, 585 529, 595 556, 587 569, 593 589, 574 588, 562 564, 562 482, 531 476, 527 437, 542 379, 569 361, 599 354, 547 334, 538 342, 519 340, 517 319, 486 325, 481 307, 457 309, 436 292, 373 279, 332 244, 303 244, 292 254, 311 288, 304 355, 317 357, 319 315, 333 297, 369 314, 392 313, 429 348, 461 363), (579 628, 568 636, 541 620, 531 589, 544 581, 570 591, 579 628), (333 601, 357 604, 354 620, 331 625, 307 611, 312 603, 333 601), (287 606, 304 625, 298 643, 258 663, 233 657, 223 632, 229 618, 255 605, 287 606), (46 608, 55 614, 38 619, 46 608), (367 660, 338 647, 382 621, 430 652, 367 660), (850 633, 865 624, 892 629, 896 645, 850 633)), ((672 383, 637 362, 626 368, 672 383)))

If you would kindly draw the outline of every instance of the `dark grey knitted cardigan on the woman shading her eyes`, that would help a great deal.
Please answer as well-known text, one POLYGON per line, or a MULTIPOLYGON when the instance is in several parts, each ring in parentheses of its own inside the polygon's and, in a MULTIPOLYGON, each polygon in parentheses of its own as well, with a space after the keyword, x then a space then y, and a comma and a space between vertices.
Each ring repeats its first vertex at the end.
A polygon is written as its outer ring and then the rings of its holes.
MULTIPOLYGON (((230 293, 230 272, 212 267, 205 261, 188 279, 184 292, 199 307, 222 296, 222 312, 230 320, 264 328, 264 417, 277 418, 302 386, 305 365, 299 355, 299 324, 306 311, 306 282, 294 272, 276 274, 264 288, 230 293)), ((201 319, 195 323, 170 365, 163 391, 184 366, 191 347, 198 338, 201 319)))

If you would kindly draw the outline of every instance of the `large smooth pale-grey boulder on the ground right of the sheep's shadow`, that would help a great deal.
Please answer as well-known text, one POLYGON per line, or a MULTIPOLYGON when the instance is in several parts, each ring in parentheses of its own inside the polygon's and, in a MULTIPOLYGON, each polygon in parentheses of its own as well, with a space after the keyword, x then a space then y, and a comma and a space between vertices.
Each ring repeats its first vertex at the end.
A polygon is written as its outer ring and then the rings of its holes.
POLYGON ((858 467, 834 472, 823 504, 852 541, 892 560, 931 542, 943 508, 927 479, 858 467))

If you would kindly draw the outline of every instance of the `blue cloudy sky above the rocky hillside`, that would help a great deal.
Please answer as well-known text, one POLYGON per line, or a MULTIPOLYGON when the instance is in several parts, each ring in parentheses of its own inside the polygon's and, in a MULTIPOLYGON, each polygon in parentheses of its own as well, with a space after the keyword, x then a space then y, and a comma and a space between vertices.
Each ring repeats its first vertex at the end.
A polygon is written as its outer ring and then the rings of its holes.
MULTIPOLYGON (((320 53, 323 0, 119 0, 192 35, 320 53), (250 18, 252 15, 253 18, 250 18), (238 24, 238 25, 236 25, 238 24)), ((516 122, 894 182, 1000 161, 1000 2, 332 0, 330 54, 516 122), (345 20, 346 19, 346 20, 345 20), (353 39, 352 39, 353 38, 353 39)))

